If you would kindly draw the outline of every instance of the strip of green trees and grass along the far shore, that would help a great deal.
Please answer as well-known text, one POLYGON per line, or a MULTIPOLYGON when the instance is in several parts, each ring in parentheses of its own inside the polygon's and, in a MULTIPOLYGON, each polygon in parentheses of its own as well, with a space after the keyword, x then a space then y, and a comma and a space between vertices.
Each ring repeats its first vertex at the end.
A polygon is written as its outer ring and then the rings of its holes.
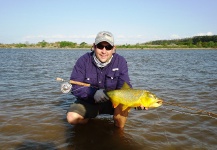
MULTIPOLYGON (((1 44, 0 48, 91 48, 86 42, 80 44, 70 41, 60 41, 48 43, 45 40, 36 44, 18 43, 1 44)), ((195 36, 192 38, 174 39, 174 40, 156 40, 146 43, 137 43, 134 45, 123 44, 116 45, 120 49, 146 49, 146 48, 217 48, 217 35, 213 36, 195 36)))

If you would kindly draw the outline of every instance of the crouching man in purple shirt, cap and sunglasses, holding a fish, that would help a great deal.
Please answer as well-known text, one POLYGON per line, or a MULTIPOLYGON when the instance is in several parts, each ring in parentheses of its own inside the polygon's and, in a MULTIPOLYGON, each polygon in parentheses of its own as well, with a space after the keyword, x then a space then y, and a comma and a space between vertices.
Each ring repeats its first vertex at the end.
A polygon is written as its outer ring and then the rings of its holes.
POLYGON ((67 112, 70 124, 83 124, 99 114, 111 114, 115 126, 124 127, 130 108, 122 111, 122 105, 119 105, 114 109, 105 94, 105 90, 120 89, 124 82, 131 86, 127 62, 115 53, 112 33, 102 31, 97 34, 93 51, 77 60, 70 79, 91 85, 73 85, 72 94, 77 100, 67 112))

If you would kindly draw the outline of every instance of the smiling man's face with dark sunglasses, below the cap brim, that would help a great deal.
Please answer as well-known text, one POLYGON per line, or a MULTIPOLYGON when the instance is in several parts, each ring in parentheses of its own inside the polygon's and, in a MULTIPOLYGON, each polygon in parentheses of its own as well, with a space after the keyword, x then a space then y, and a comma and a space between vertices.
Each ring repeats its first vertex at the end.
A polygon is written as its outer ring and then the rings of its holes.
POLYGON ((96 54, 97 59, 102 63, 107 62, 112 57, 114 53, 115 47, 111 46, 107 42, 100 42, 99 44, 94 46, 94 51, 96 54))

